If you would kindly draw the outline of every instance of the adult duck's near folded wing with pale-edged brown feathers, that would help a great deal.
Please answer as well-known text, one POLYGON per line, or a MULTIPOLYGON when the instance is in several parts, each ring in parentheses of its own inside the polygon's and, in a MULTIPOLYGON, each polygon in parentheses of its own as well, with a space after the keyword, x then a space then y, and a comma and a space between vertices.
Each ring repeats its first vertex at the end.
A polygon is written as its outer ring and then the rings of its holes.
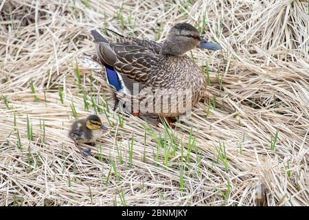
POLYGON ((139 83, 146 83, 159 62, 157 54, 139 45, 123 43, 97 43, 97 55, 100 63, 115 68, 139 83))

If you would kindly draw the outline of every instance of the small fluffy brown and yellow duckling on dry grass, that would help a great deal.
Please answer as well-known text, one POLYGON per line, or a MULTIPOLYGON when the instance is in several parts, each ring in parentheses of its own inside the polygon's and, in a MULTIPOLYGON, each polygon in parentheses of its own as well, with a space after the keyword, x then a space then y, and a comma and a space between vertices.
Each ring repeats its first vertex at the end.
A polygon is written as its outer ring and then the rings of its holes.
POLYGON ((86 150, 80 148, 78 144, 93 144, 95 140, 102 137, 108 130, 106 126, 102 125, 100 118, 97 115, 89 115, 87 118, 76 120, 71 125, 69 137, 74 141, 74 144, 80 150, 80 153, 87 157, 90 155, 90 148, 86 150))

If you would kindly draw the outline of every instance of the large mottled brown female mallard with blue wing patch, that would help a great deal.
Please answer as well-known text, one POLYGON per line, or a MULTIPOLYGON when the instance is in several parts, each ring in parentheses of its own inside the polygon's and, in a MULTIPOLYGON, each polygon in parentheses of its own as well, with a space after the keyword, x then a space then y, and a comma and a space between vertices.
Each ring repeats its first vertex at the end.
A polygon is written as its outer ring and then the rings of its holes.
POLYGON ((196 47, 221 49, 188 23, 174 25, 163 43, 121 34, 116 43, 109 43, 98 31, 91 30, 91 34, 97 53, 93 60, 105 67, 117 100, 125 100, 120 103, 126 109, 130 106, 135 115, 174 117, 190 110, 202 98, 206 82, 201 69, 185 53, 196 47))

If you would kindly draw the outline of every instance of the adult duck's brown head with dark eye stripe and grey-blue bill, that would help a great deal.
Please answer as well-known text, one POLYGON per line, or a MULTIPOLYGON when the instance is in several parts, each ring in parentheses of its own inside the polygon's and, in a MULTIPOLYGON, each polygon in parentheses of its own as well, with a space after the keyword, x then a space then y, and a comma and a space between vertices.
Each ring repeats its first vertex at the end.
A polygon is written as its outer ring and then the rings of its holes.
POLYGON ((189 23, 176 23, 168 32, 161 54, 172 54, 183 56, 189 50, 194 48, 220 50, 220 45, 211 43, 200 36, 198 30, 189 23))

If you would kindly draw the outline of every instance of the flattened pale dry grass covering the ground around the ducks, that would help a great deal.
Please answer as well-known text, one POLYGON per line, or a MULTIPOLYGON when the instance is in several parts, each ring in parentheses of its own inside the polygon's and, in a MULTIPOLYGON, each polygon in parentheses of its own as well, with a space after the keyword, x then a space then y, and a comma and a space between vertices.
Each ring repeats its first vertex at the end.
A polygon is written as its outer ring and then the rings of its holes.
POLYGON ((268 206, 309 205, 307 1, 185 2, 0 2, 0 206, 253 206, 258 184, 268 206), (162 41, 178 21, 203 32, 203 17, 224 50, 193 52, 209 85, 192 118, 120 126, 102 74, 79 63, 89 30, 162 41), (94 112, 91 94, 111 131, 84 158, 67 129, 72 103, 78 118, 94 112))

